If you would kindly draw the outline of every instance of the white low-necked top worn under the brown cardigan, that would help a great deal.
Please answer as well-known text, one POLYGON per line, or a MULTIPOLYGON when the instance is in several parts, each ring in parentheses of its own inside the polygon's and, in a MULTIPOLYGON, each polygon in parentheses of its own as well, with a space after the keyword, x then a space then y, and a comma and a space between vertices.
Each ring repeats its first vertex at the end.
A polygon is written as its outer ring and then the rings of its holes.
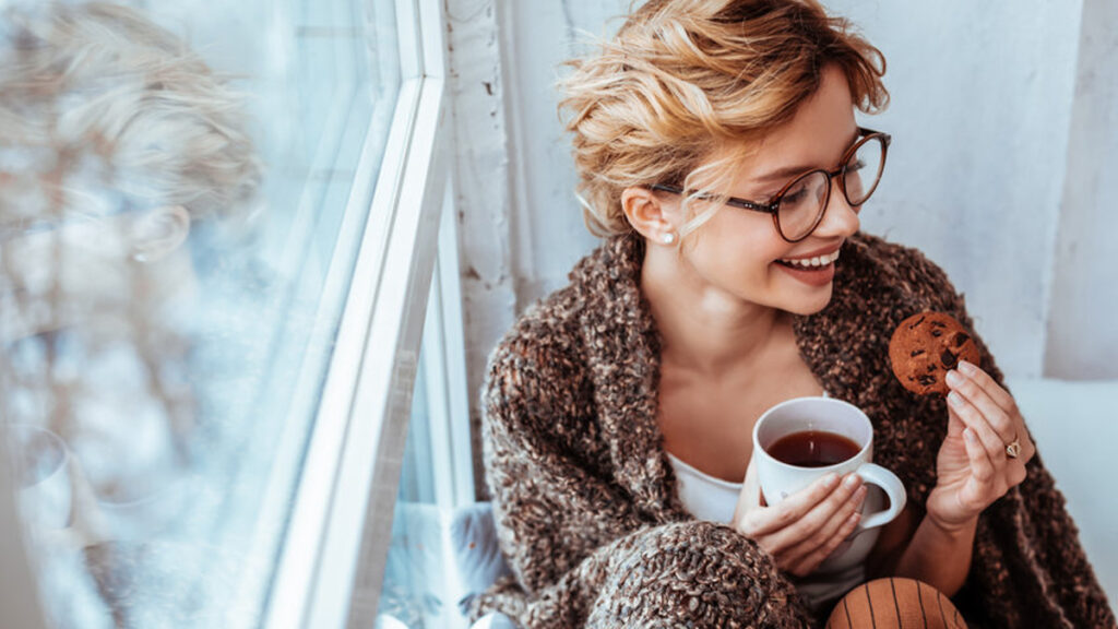
MULTIPOLYGON (((823 392, 823 396, 827 397, 826 392, 823 392)), ((730 482, 710 476, 683 462, 671 452, 667 453, 667 460, 675 471, 680 501, 691 515, 698 519, 718 524, 728 524, 733 518, 733 510, 738 506, 738 495, 741 494, 741 482, 730 482)), ((877 535, 873 537, 875 538, 877 535)), ((847 544, 843 544, 839 551, 846 547, 847 544)), ((858 563, 839 573, 813 573, 804 579, 794 580, 796 590, 812 607, 831 602, 863 581, 865 581, 864 563, 858 563)))

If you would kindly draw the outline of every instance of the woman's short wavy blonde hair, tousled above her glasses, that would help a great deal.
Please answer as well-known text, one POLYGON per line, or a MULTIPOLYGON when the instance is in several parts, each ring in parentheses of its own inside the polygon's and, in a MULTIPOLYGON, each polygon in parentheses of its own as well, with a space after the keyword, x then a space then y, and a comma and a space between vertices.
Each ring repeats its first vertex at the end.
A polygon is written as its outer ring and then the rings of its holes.
MULTIPOLYGON (((818 90, 827 65, 842 69, 861 111, 889 102, 881 51, 816 0, 651 0, 599 46, 567 62, 575 69, 559 84, 578 197, 597 236, 633 229, 625 188, 726 186, 752 141, 818 90), (728 157, 703 163, 722 148, 728 157)), ((680 243, 721 207, 709 205, 680 243)))

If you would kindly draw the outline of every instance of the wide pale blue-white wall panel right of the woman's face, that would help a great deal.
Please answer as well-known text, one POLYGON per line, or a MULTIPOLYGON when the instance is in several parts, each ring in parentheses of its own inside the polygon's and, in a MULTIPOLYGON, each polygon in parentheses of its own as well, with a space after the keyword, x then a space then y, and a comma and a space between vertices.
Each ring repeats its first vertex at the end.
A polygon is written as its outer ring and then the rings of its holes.
POLYGON ((889 62, 892 103, 873 122, 893 144, 863 228, 925 251, 1003 370, 1040 375, 1080 2, 827 4, 889 62))

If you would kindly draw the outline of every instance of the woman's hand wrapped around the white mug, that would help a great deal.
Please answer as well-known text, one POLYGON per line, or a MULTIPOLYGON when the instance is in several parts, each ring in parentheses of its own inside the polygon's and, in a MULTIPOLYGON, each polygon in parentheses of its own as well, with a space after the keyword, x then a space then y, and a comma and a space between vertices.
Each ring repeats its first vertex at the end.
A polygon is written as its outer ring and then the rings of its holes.
POLYGON ((806 576, 854 532, 866 491, 856 473, 831 473, 776 506, 765 506, 750 461, 731 525, 771 554, 778 569, 806 576))

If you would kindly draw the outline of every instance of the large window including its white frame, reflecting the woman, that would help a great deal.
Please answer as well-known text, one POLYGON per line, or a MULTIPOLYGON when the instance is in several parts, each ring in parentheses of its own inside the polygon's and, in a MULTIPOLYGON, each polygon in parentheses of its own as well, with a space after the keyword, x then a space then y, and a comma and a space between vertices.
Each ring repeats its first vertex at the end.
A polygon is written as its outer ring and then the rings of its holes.
POLYGON ((45 616, 375 612, 447 179, 442 4, 15 4, 4 67, 87 73, 0 98, 36 123, 0 124, 0 412, 45 616))

